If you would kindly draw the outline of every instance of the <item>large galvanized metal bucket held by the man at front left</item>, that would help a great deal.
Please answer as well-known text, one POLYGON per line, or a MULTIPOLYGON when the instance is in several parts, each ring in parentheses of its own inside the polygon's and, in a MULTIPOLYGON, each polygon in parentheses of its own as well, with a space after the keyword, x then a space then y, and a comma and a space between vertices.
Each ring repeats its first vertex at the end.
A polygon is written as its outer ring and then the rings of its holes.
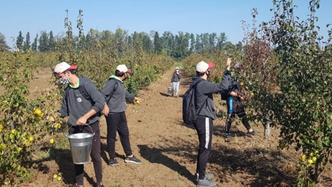
MULTIPOLYGON (((75 124, 74 124, 75 125, 75 124)), ((87 124, 85 124, 87 125, 87 124)), ((73 126, 73 125, 72 125, 73 126)), ((72 127, 70 126, 70 127, 72 127)), ((89 126, 89 125, 87 125, 89 126)), ((70 129, 69 127, 69 129, 70 129)), ((90 127, 90 126, 89 126, 90 127)), ((91 132, 93 132, 90 127, 91 132)), ((71 157, 74 164, 86 164, 90 160, 90 153, 92 148, 92 139, 95 133, 77 133, 72 135, 66 135, 69 140, 71 157)))

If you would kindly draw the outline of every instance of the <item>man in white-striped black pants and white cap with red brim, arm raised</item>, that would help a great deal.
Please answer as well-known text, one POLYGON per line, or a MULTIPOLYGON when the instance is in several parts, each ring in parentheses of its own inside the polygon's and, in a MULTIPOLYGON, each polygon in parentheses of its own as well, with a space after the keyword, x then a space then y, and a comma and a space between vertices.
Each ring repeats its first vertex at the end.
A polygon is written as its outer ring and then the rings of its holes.
MULTIPOLYGON (((212 93, 222 93, 226 92, 227 89, 232 89, 227 88, 223 82, 211 83, 207 81, 207 78, 211 75, 210 68, 212 67, 212 62, 199 62, 196 65, 198 77, 194 78, 190 85, 194 88, 196 111, 198 111, 194 123, 200 143, 196 168, 197 186, 215 186, 217 184, 217 182, 210 181, 213 177, 212 174, 205 173, 207 158, 211 151, 213 120, 216 119, 212 93)), ((238 87, 237 85, 234 86, 238 87)))

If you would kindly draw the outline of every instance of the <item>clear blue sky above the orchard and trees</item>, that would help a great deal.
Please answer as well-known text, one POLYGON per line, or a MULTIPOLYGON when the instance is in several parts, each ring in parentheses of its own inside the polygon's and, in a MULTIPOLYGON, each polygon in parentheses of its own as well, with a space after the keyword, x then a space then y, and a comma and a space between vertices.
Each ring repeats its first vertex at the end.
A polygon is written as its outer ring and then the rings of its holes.
MULTIPOLYGON (((307 18, 309 0, 294 0, 298 5, 295 15, 300 20, 307 18)), ((42 30, 53 31, 56 35, 65 31, 65 10, 69 10, 69 20, 73 32, 78 35, 76 20, 78 10, 83 10, 84 34, 90 28, 99 31, 114 32, 117 26, 134 31, 150 30, 177 33, 178 31, 194 34, 224 32, 228 41, 237 43, 243 39, 241 20, 251 23, 251 9, 258 9, 257 23, 269 21, 273 16, 272 0, 4 0, 0 6, 0 32, 5 35, 8 46, 12 47, 11 37, 17 37, 22 31, 23 37, 30 32, 33 42, 42 30)), ((317 26, 320 35, 327 36, 326 24, 332 23, 332 0, 322 0, 316 12, 319 17, 317 26)))

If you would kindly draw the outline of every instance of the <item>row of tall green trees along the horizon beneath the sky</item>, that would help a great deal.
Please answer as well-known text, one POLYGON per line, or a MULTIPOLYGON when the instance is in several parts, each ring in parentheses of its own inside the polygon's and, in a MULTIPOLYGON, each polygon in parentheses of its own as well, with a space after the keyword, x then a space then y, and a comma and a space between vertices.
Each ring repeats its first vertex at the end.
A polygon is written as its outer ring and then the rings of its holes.
MULTIPOLYGON (((230 47, 241 48, 242 43, 232 44, 227 41, 225 33, 202 33, 196 34, 179 31, 173 34, 170 31, 165 31, 161 35, 157 31, 134 32, 128 34, 127 30, 117 28, 115 32, 109 30, 98 31, 90 29, 90 31, 80 37, 73 36, 72 46, 77 50, 90 49, 96 45, 103 44, 103 42, 111 41, 114 43, 118 52, 123 51, 124 45, 133 48, 135 42, 139 41, 145 52, 167 54, 175 60, 182 60, 192 53, 211 54, 215 50, 227 50, 230 47)), ((26 37, 23 37, 22 32, 15 39, 15 46, 21 51, 31 49, 32 51, 40 52, 56 52, 58 51, 58 44, 66 41, 66 33, 61 32, 54 36, 53 32, 41 31, 36 34, 33 42, 30 41, 30 32, 27 32, 26 37)), ((6 38, 0 33, 0 51, 9 50, 6 43, 6 38)))

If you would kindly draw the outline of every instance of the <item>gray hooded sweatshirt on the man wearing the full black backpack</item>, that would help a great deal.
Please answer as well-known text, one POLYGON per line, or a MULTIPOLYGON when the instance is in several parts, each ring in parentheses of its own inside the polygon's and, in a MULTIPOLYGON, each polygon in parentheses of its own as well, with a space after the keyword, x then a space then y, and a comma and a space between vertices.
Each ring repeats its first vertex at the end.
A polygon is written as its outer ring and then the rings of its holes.
MULTIPOLYGON (((212 93, 228 93, 232 87, 228 88, 228 85, 224 81, 221 83, 212 83, 203 78, 195 77, 193 78, 193 83, 191 87, 196 84, 198 80, 203 80, 195 88, 195 102, 196 102, 196 111, 200 110, 200 107, 203 105, 203 109, 200 114, 197 114, 201 117, 208 117, 212 120, 216 119, 213 96, 212 93), (207 99, 207 101, 206 101, 207 99)), ((237 85, 233 85, 237 88, 237 85)))

